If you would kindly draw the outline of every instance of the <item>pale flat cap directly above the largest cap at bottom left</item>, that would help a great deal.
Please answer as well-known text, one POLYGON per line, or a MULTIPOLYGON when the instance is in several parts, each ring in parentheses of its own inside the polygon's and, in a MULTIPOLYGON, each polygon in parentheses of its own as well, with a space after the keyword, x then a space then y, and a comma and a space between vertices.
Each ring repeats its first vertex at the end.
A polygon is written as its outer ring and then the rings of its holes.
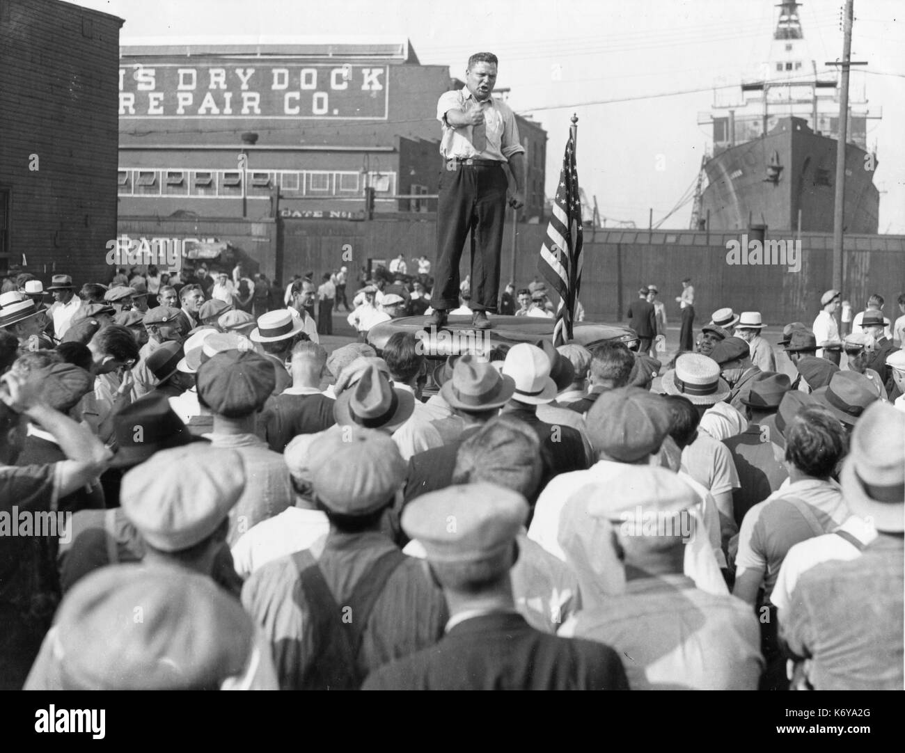
POLYGON ((161 450, 122 477, 123 512, 152 547, 194 547, 223 523, 247 479, 242 455, 192 443, 161 450))

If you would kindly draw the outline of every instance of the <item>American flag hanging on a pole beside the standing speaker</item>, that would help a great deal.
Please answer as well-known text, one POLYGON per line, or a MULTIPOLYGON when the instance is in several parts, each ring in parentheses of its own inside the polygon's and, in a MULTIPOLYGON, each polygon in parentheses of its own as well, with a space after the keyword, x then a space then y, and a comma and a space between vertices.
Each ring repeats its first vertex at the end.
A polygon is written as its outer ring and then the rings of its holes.
POLYGON ((538 272, 559 294, 557 323, 553 329, 553 344, 556 346, 572 338, 575 304, 581 287, 581 245, 581 199, 578 195, 575 139, 570 133, 563 167, 559 172, 557 195, 553 199, 553 216, 547 226, 547 239, 540 248, 538 260, 538 272))

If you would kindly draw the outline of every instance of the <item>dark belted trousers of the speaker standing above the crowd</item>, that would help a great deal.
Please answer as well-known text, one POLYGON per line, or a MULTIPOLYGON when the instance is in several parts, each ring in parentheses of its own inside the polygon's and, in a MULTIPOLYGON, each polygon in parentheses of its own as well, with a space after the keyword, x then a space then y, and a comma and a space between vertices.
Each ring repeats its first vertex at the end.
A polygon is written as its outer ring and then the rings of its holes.
POLYGON ((433 268, 431 297, 434 309, 450 310, 459 306, 459 260, 471 231, 470 308, 497 310, 508 187, 501 164, 481 167, 448 162, 444 165, 437 206, 437 263, 433 268))

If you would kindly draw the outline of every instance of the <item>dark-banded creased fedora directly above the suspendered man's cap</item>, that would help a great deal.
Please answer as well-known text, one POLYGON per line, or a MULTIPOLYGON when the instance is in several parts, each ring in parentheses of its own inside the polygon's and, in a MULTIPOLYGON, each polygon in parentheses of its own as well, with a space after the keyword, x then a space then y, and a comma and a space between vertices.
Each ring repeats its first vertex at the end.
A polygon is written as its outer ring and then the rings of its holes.
POLYGON ((414 412, 414 395, 391 386, 375 364, 369 364, 351 389, 344 390, 333 405, 340 426, 393 431, 414 412))

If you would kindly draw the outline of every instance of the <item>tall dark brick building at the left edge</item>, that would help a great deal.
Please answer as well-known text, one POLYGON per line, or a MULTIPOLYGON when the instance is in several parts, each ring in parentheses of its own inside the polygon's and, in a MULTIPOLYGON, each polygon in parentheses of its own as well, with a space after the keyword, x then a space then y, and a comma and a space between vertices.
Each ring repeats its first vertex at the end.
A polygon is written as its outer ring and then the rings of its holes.
POLYGON ((0 3, 0 184, 10 258, 48 279, 106 273, 116 234, 119 26, 53 0, 0 3))

